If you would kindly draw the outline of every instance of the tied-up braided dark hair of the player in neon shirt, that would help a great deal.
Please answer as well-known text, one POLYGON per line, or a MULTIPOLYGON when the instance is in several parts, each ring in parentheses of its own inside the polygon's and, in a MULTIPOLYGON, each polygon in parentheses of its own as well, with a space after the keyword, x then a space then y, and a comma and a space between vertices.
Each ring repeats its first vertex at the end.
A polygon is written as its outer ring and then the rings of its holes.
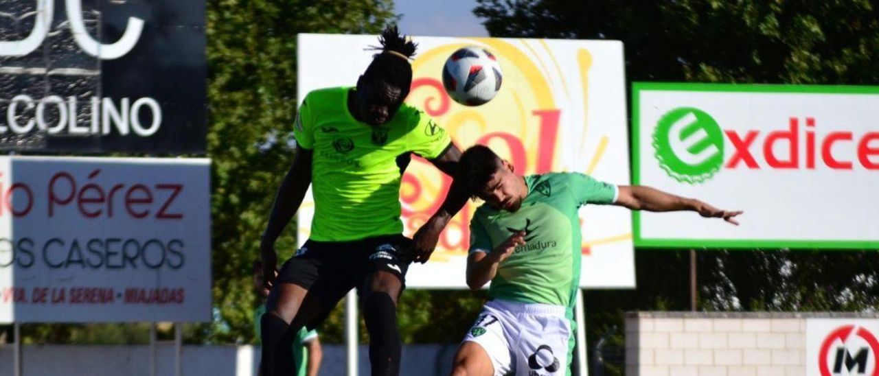
POLYGON ((381 46, 368 49, 379 51, 373 55, 363 78, 368 81, 382 81, 403 90, 403 98, 409 94, 412 84, 412 66, 408 59, 415 55, 418 45, 401 34, 396 25, 389 25, 379 36, 381 46))

